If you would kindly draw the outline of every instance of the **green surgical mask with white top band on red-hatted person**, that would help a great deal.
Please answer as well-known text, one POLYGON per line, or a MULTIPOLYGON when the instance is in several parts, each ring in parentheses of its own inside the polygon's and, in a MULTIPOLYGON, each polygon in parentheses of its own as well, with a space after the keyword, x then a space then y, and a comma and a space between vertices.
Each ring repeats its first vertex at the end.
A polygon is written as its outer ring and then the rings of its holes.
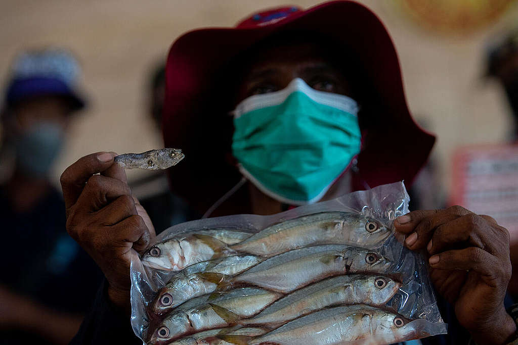
POLYGON ((240 172, 288 204, 319 201, 359 153, 357 103, 294 79, 234 110, 232 152, 240 172))

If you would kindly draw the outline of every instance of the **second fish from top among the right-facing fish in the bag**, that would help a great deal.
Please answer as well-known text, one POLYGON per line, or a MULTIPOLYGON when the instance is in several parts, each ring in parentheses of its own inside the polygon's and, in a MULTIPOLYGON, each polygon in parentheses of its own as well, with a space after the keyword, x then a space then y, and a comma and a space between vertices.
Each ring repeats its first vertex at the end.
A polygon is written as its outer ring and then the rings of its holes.
POLYGON ((235 277, 222 277, 219 289, 251 284, 289 293, 327 277, 357 272, 383 274, 390 265, 390 261, 370 249, 347 245, 312 246, 269 258, 235 277))

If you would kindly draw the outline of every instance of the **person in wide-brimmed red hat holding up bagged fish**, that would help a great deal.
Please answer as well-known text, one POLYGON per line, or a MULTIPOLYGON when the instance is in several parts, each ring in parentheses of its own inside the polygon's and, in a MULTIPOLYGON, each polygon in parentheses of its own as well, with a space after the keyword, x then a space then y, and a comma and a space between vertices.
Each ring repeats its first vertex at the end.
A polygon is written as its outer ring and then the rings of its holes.
MULTIPOLYGON (((352 1, 184 34, 169 52, 163 115, 165 145, 186 155, 169 171, 171 189, 205 216, 272 214, 409 185, 435 141, 412 120, 389 34, 352 1)), ((61 178, 67 230, 106 276, 76 343, 131 341, 130 258, 154 237, 113 156, 85 156, 61 178)), ((479 344, 515 338, 503 306, 506 229, 462 207, 415 211, 395 227, 410 249, 430 254, 430 278, 466 334, 479 344)))

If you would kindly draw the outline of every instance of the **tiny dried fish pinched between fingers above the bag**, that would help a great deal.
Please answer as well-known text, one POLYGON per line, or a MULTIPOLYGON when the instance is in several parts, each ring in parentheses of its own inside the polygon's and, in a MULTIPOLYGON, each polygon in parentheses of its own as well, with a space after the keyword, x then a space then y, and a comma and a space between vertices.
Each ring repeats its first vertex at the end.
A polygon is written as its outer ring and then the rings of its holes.
POLYGON ((142 153, 125 153, 114 158, 124 169, 160 170, 175 166, 184 155, 178 148, 160 148, 142 153))

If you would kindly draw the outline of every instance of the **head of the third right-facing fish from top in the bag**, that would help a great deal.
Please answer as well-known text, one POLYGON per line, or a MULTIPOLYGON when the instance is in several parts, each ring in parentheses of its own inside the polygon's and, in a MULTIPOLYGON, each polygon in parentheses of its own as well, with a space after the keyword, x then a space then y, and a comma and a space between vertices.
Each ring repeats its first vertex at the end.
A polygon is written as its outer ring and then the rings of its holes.
POLYGON ((364 276, 353 284, 358 297, 369 305, 384 305, 401 287, 400 282, 384 276, 364 276))

